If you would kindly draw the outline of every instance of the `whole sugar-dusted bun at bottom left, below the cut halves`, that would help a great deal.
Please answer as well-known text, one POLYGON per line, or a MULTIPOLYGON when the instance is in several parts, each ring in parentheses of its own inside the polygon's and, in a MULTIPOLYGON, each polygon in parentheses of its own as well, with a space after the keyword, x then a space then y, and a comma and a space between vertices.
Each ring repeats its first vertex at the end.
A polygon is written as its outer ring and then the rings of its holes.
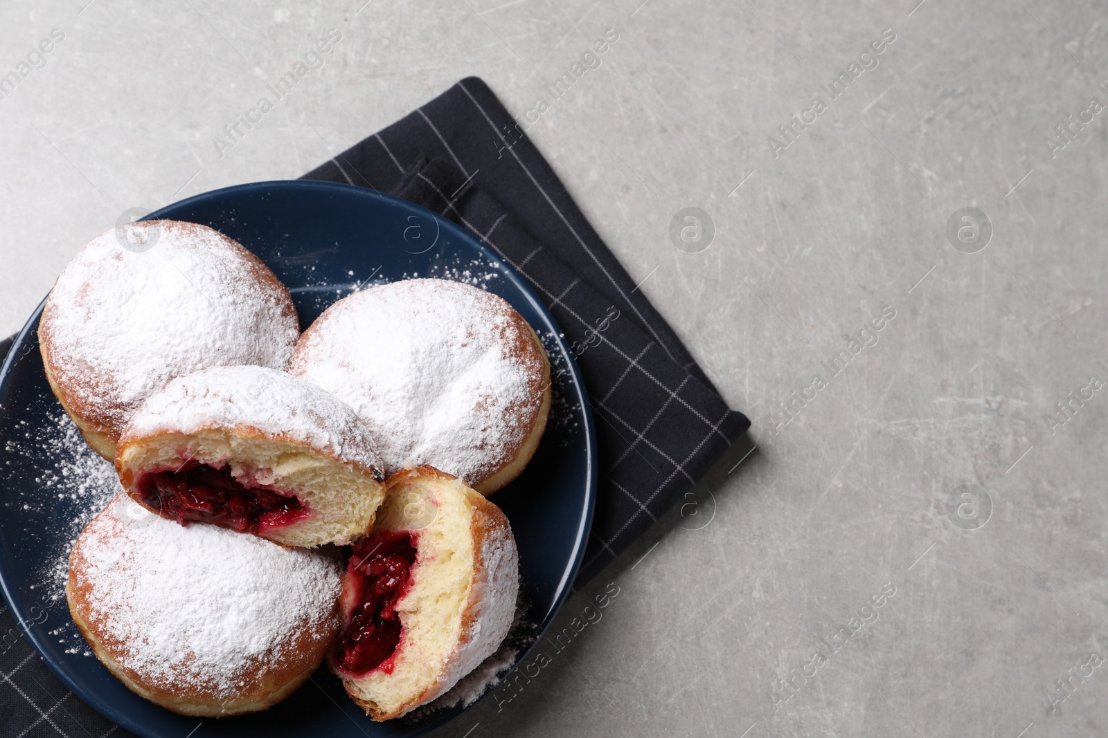
POLYGON ((339 627, 340 574, 324 553, 182 528, 121 491, 78 538, 65 596, 129 689, 222 717, 275 705, 319 666, 339 627))

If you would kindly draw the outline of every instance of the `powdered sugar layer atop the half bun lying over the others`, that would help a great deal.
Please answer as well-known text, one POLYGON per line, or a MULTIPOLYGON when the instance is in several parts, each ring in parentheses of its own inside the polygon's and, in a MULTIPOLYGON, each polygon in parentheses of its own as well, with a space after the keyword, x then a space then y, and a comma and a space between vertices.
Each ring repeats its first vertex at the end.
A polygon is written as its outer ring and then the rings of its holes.
POLYGON ((135 413, 121 443, 239 425, 382 469, 372 434, 349 405, 306 380, 263 366, 216 366, 173 380, 135 413))

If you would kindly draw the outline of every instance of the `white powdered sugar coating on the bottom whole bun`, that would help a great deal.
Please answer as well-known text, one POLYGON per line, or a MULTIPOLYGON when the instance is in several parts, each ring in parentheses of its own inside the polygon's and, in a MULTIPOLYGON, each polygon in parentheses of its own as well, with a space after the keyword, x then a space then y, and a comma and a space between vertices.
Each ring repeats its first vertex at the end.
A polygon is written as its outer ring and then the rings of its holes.
POLYGON ((75 574, 85 620, 147 683, 230 697, 305 630, 330 631, 340 568, 326 554, 116 507, 78 541, 75 574))

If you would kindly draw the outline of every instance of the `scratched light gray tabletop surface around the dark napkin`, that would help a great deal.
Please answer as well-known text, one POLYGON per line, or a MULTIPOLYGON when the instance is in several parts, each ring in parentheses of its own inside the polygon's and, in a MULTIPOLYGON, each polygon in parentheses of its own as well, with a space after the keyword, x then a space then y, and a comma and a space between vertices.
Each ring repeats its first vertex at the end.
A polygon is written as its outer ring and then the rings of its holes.
POLYGON ((1108 8, 917 1, 3 3, 0 74, 65 38, 0 101, 0 333, 129 208, 297 176, 464 74, 522 117, 615 29, 530 135, 757 450, 438 735, 1106 735, 1108 8))

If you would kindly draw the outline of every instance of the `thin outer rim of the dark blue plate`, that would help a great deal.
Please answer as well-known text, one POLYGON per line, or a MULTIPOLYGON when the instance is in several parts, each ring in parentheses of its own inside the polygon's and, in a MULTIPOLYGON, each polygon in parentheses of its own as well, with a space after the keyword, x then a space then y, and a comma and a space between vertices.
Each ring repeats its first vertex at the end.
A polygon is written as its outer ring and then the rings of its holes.
MULTIPOLYGON (((581 571, 582 563, 584 562, 585 550, 588 544, 588 536, 592 531, 593 519, 596 511, 596 491, 597 491, 597 450, 596 450, 596 425, 592 413, 592 406, 588 401, 588 391, 585 386, 585 380, 581 373, 581 367, 577 365, 576 356, 573 350, 570 347, 565 334, 562 331, 561 324, 555 320, 554 315, 551 313, 546 304, 538 299, 534 290, 527 284, 526 280, 512 267, 506 259, 494 252, 485 243, 483 243, 476 236, 469 232, 458 224, 453 222, 449 218, 445 218, 433 210, 424 208, 421 205, 406 200, 403 198, 397 197, 394 195, 389 195, 386 193, 378 191, 376 189, 370 189, 366 187, 358 187, 356 185, 346 185, 341 183, 332 181, 321 181, 312 179, 273 179, 263 180, 254 183, 244 183, 239 185, 232 185, 228 187, 220 187, 218 189, 208 190, 206 193, 199 193, 191 197, 176 200, 164 205, 156 210, 147 214, 141 220, 154 220, 160 216, 158 214, 171 208, 185 207, 191 204, 198 204, 218 199, 219 197, 226 197, 229 195, 249 194, 256 190, 266 189, 285 189, 285 190, 318 190, 321 193, 334 193, 339 196, 355 195, 357 197, 373 197, 380 198, 389 202, 391 207, 416 210, 419 215, 424 215, 433 218, 440 228, 440 232, 444 229, 451 232, 452 236, 459 238, 469 246, 475 248, 486 261, 499 266, 499 271, 503 277, 509 279, 513 285, 532 303, 533 308, 536 309, 541 314, 544 315, 546 320, 550 321, 556 330, 554 340, 562 347, 563 354, 567 360, 567 367, 573 376, 574 385, 576 387, 577 398, 581 401, 581 413, 584 416, 584 433, 583 437, 586 444, 586 478, 587 484, 585 488, 585 502, 584 502, 584 514, 577 526, 576 538, 574 541, 574 553, 572 557, 571 565, 563 573, 562 580, 557 584, 556 596, 554 597, 554 604, 550 612, 546 614, 543 623, 535 631, 535 640, 527 647, 520 651, 515 658, 514 664, 504 673, 503 678, 499 684, 503 684, 507 680, 509 676, 520 667, 538 647, 542 642, 543 636, 547 633, 550 627, 554 624, 558 614, 562 612, 566 600, 570 594, 574 592, 573 582, 581 571)), ((250 251, 254 253, 253 251, 250 251)), ((260 257, 259 257, 260 258, 260 257)), ((397 280, 402 281, 402 280, 397 280)), ((448 280, 454 281, 454 280, 448 280)), ((51 288, 52 290, 53 288, 51 288)), ((17 353, 24 350, 28 345, 28 336, 38 330, 39 320, 42 316, 42 310, 45 306, 47 300, 50 297, 50 292, 42 298, 38 306, 31 312, 23 328, 16 334, 12 341, 11 347, 8 351, 7 356, 2 363, 0 363, 0 398, 4 397, 9 392, 9 385, 11 383, 11 367, 16 362, 17 353)), ((348 295, 343 295, 348 297, 348 295)), ((38 341, 38 339, 35 339, 38 341)), ((21 606, 16 606, 16 600, 13 599, 12 588, 13 582, 9 580, 11 576, 8 571, 8 557, 7 551, 7 538, 4 536, 3 529, 0 528, 0 593, 3 594, 4 602, 8 605, 9 612, 12 614, 16 624, 19 626, 20 631, 27 637, 31 647, 38 654, 39 658, 50 668, 50 671, 57 676, 61 682, 70 689, 74 695, 76 695, 83 703, 92 707, 94 710, 103 715, 109 720, 113 721, 115 725, 134 732, 138 736, 146 736, 147 738, 154 738, 153 734, 148 732, 144 725, 135 723, 127 715, 120 711, 114 705, 109 705, 101 699, 89 694, 81 685, 79 685, 69 674, 65 665, 55 659, 51 652, 47 648, 44 641, 39 633, 32 627, 29 627, 27 619, 24 617, 23 609, 21 606)), ((68 606, 66 606, 68 614, 68 606)), ((321 665, 322 666, 322 665, 321 665)), ((113 677, 114 678, 114 677, 113 677)), ((495 692, 495 687, 492 689, 486 689, 484 694, 481 695, 476 700, 470 705, 463 707, 454 708, 443 708, 441 710, 441 717, 429 720, 425 725, 420 726, 416 731, 409 734, 411 736, 421 736, 430 732, 431 730, 438 729, 445 725, 447 723, 453 720, 454 718, 461 716, 463 713, 468 711, 470 708, 474 707, 476 704, 486 699, 490 695, 495 692)), ((138 695, 135 697, 142 699, 138 695)), ((152 703, 153 704, 153 703, 152 703)), ((165 708, 162 708, 165 709, 165 708)), ((339 708, 340 711, 346 713, 339 708)), ((168 710, 167 710, 168 711, 168 710)), ((384 724, 387 725, 387 724, 384 724)))

